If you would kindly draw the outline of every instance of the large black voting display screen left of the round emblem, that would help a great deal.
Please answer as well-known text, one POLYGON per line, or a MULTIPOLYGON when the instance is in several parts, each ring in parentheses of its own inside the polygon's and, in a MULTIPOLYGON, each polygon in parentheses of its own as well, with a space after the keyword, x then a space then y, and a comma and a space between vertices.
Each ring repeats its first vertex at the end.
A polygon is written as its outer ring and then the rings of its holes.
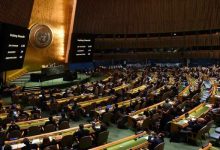
POLYGON ((0 23, 0 71, 23 67, 28 37, 27 28, 0 23))

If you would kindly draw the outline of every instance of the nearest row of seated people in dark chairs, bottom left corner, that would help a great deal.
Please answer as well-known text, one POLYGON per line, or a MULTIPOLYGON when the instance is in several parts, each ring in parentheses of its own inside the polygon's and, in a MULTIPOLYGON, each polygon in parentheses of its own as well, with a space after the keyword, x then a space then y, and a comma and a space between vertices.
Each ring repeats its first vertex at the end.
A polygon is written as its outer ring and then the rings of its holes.
MULTIPOLYGON (((107 131, 107 126, 101 122, 99 126, 97 126, 95 123, 92 123, 92 131, 85 128, 83 124, 80 124, 79 129, 76 132, 74 132, 72 135, 62 137, 61 141, 46 137, 43 138, 42 143, 33 144, 29 141, 28 137, 24 138, 24 146, 21 149, 87 149, 105 144, 107 142, 108 133, 109 132, 107 131)), ((12 149, 12 146, 5 145, 4 149, 12 149)))

